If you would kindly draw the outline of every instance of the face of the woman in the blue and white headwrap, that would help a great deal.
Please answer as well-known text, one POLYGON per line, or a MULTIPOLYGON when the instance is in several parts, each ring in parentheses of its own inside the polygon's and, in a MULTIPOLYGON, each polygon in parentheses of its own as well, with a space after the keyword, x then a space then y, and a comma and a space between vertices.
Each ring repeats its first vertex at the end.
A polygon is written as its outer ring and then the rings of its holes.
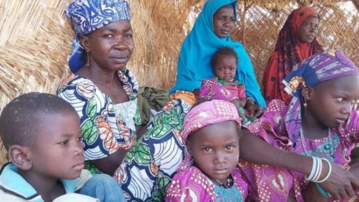
POLYGON ((128 20, 110 23, 87 36, 81 36, 81 43, 89 52, 91 66, 111 71, 126 67, 135 46, 128 20))

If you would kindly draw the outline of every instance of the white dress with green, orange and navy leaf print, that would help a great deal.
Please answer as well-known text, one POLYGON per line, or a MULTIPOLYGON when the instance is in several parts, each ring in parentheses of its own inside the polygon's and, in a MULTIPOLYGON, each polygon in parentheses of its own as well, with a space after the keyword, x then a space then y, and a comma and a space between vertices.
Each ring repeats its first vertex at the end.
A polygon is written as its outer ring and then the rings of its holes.
POLYGON ((179 134, 190 105, 181 100, 168 102, 147 125, 148 132, 136 141, 135 126, 141 124, 138 83, 126 68, 118 71, 118 76, 130 100, 120 105, 114 104, 91 80, 78 75, 64 79, 57 95, 71 103, 80 117, 85 168, 92 174, 100 173, 91 160, 108 157, 118 149, 130 149, 114 173, 125 198, 162 201, 165 187, 184 157, 184 142, 179 134))

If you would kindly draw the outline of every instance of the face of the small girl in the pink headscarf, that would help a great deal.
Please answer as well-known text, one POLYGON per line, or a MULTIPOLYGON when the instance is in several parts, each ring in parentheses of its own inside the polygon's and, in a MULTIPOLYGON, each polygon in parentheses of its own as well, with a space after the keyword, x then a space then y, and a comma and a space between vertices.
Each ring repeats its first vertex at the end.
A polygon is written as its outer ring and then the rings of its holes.
POLYGON ((205 126, 189 136, 188 149, 197 168, 226 183, 239 160, 238 126, 226 121, 205 126))

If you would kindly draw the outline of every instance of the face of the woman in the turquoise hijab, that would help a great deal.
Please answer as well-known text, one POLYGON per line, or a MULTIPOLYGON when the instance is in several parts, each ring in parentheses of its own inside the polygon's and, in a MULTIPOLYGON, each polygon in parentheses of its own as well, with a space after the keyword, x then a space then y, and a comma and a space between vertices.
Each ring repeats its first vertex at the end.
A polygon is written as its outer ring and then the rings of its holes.
POLYGON ((233 6, 226 5, 219 8, 213 16, 213 29, 215 35, 219 38, 228 36, 234 28, 234 23, 235 16, 233 6))

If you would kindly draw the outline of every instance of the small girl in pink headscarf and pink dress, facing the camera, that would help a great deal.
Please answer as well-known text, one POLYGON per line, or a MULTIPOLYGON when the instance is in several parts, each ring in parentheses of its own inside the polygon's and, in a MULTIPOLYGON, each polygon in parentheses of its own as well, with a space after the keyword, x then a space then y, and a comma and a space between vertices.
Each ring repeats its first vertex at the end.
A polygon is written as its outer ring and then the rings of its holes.
POLYGON ((167 187, 166 202, 243 202, 248 184, 240 177, 241 118, 234 104, 199 102, 186 115, 182 138, 188 154, 167 187))

